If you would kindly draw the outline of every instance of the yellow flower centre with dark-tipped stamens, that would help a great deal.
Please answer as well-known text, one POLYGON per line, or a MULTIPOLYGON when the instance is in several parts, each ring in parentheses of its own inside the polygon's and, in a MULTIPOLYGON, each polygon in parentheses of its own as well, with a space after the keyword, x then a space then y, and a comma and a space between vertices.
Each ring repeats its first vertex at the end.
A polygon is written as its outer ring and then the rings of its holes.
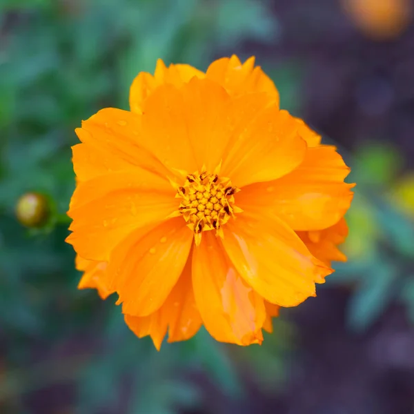
POLYGON ((223 237, 221 226, 242 211, 234 205, 234 194, 239 191, 230 179, 217 174, 204 171, 187 175, 184 186, 177 189, 177 197, 182 198, 178 210, 194 231, 197 246, 203 231, 215 229, 216 236, 223 237))

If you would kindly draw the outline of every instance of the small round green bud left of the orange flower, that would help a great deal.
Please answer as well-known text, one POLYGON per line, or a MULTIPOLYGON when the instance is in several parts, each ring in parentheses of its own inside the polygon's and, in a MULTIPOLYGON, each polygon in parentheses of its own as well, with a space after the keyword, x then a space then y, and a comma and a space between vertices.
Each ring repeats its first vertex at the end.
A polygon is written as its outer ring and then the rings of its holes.
POLYGON ((50 213, 48 199, 39 193, 23 194, 16 204, 16 216, 23 226, 41 227, 50 213))

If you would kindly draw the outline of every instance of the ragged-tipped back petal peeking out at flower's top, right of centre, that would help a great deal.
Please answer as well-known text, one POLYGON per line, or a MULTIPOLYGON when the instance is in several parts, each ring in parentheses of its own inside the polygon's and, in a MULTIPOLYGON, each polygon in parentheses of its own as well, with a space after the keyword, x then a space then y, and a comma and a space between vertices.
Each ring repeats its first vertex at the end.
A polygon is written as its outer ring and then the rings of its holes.
POLYGON ((275 83, 255 67, 255 57, 250 57, 243 64, 235 55, 224 57, 211 63, 206 77, 224 86, 230 95, 244 95, 250 92, 266 92, 266 95, 279 107, 279 92, 275 83))

